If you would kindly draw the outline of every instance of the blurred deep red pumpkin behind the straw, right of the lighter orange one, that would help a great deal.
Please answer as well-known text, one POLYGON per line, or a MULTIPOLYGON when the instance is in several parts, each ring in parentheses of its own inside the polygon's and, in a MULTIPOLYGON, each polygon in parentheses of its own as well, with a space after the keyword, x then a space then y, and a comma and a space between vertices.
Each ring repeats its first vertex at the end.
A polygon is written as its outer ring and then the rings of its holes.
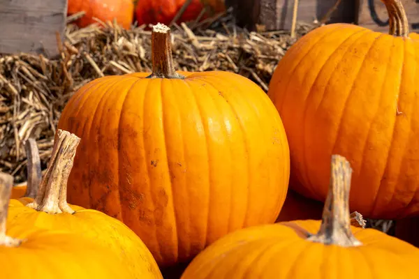
MULTIPOLYGON (((188 0, 141 0, 135 6, 135 19, 141 24, 170 24, 176 15, 182 10, 182 6, 188 0)), ((196 20, 203 13, 205 18, 210 13, 220 13, 226 9, 222 0, 192 0, 176 22, 188 22, 196 20), (203 8, 206 8, 203 11, 203 8)))

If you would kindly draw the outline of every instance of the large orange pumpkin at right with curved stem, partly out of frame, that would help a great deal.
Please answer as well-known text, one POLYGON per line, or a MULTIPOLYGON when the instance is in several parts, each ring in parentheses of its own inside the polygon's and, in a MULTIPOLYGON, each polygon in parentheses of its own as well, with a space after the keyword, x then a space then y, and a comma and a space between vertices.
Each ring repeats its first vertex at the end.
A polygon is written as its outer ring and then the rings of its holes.
POLYGON ((341 153, 354 171, 351 210, 395 219, 419 214, 419 40, 409 38, 400 1, 383 2, 390 34, 314 29, 279 61, 268 95, 284 122, 297 192, 324 201, 329 158, 341 153))

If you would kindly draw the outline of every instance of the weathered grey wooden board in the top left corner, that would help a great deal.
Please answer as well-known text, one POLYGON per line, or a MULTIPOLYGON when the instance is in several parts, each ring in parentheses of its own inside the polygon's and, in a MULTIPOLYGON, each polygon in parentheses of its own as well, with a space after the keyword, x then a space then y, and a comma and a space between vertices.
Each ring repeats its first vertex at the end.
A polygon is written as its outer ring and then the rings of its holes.
POLYGON ((67 0, 0 0, 0 53, 56 56, 66 13, 67 0))

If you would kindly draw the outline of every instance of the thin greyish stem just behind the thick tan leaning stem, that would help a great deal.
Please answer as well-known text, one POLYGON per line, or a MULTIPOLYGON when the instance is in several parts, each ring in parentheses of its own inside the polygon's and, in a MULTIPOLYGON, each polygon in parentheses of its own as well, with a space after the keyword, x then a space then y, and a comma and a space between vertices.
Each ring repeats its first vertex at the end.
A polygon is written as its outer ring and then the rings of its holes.
POLYGON ((39 158, 38 146, 33 138, 29 138, 24 144, 24 149, 27 153, 27 175, 28 183, 27 190, 24 197, 31 197, 34 199, 38 193, 39 184, 42 179, 41 172, 41 158, 39 158))

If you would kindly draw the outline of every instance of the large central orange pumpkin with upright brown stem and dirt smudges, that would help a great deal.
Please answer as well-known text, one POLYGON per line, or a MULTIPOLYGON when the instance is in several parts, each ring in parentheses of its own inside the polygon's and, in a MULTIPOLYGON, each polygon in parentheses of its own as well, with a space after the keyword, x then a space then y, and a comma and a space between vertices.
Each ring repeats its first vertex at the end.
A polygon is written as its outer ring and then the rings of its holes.
POLYGON ((68 101, 58 128, 81 137, 68 202, 140 236, 160 266, 235 229, 274 223, 288 142, 266 94, 221 71, 175 72, 170 29, 152 31, 153 73, 107 76, 68 101))

